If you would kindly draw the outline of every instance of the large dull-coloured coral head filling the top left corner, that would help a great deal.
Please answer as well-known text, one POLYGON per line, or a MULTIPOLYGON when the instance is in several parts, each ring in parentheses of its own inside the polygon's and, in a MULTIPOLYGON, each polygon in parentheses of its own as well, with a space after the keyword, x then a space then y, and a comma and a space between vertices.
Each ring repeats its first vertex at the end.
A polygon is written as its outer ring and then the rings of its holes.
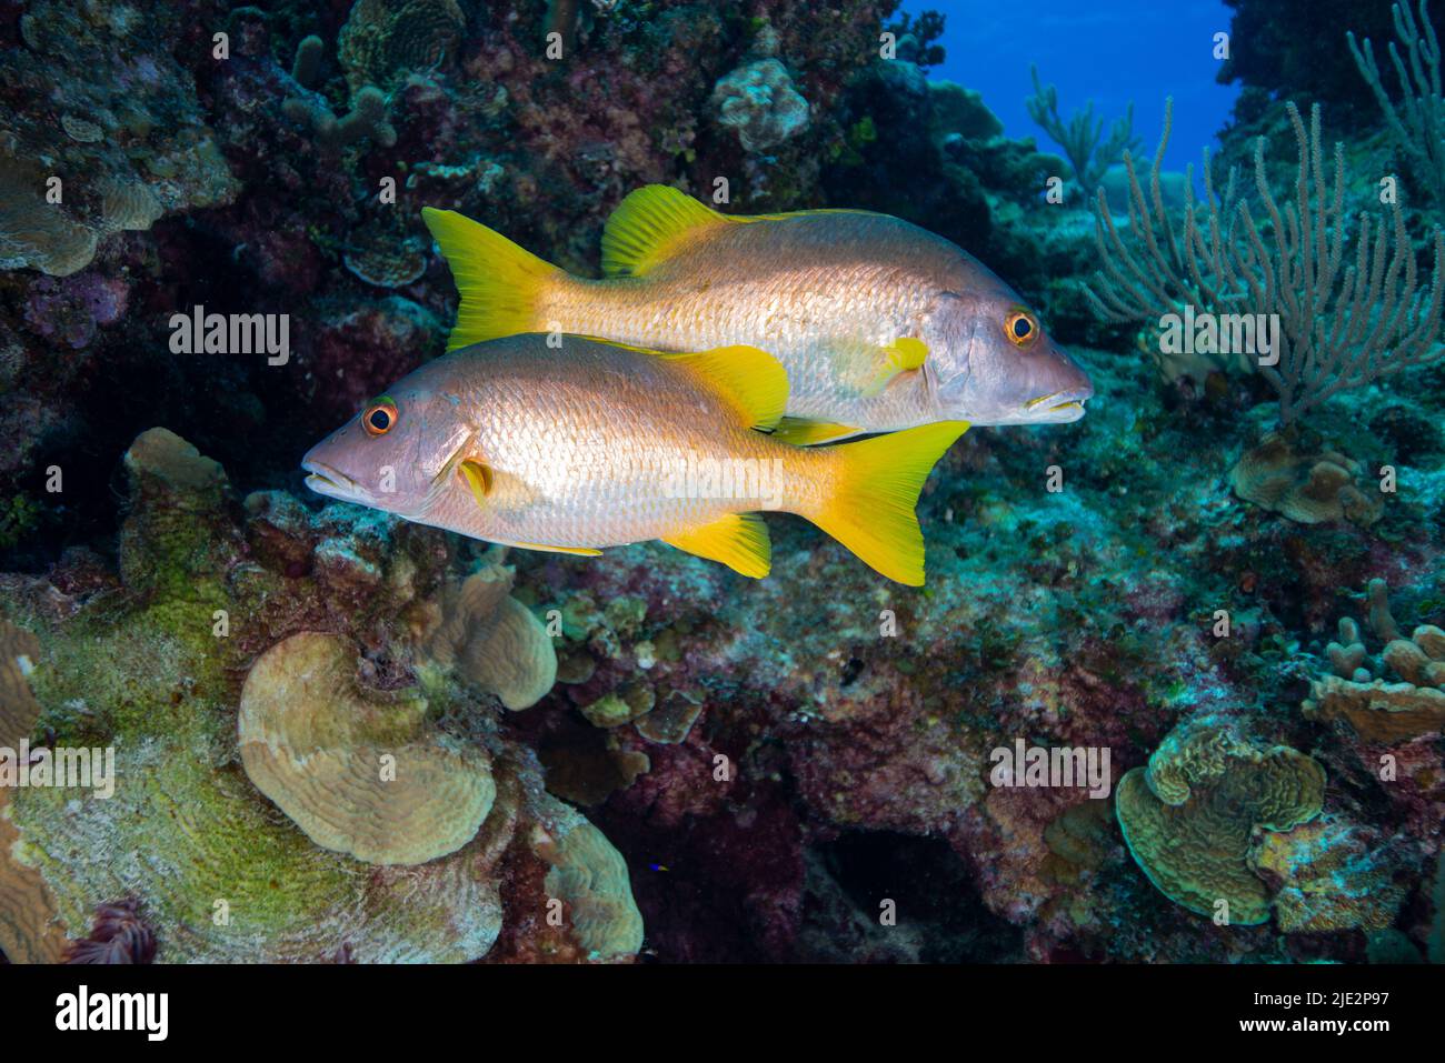
POLYGON ((7 49, 0 79, 0 267, 68 276, 114 233, 236 198, 178 58, 188 17, 49 0, 20 16, 25 48, 7 49), (59 121, 27 105, 53 84, 65 85, 59 121))

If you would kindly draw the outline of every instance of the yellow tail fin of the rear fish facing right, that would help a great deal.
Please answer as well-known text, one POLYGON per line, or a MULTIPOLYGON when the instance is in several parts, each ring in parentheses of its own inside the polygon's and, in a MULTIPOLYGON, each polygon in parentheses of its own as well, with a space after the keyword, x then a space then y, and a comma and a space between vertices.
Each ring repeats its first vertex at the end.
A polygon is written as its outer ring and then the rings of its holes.
POLYGON ((538 296, 555 277, 556 266, 525 251, 500 233, 493 233, 455 211, 422 208, 422 220, 442 248, 461 303, 447 350, 519 332, 546 331, 536 319, 538 296))

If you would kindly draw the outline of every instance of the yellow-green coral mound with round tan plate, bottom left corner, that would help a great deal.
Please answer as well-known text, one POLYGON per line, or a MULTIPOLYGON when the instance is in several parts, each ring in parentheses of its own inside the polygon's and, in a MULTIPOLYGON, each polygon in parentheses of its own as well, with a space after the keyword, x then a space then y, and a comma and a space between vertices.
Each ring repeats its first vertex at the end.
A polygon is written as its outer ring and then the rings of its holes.
MULTIPOLYGON (((504 911, 543 913, 546 841, 585 820, 409 646, 407 618, 444 583, 444 540, 354 511, 345 549, 322 556, 334 540, 309 529, 345 519, 338 507, 308 519, 263 497, 238 527, 224 471, 165 432, 124 465, 118 576, 66 592, 62 566, 7 578, 0 598, 33 633, 17 635, 39 706, 25 732, 108 747, 116 768, 108 797, 0 791, 0 947, 56 959, 126 903, 160 962, 460 962, 493 949, 504 911)), ((575 864, 561 900, 582 923, 548 927, 571 943, 558 955, 627 959, 640 916, 626 865, 600 833, 575 864)), ((514 934, 500 959, 520 953, 514 934)))

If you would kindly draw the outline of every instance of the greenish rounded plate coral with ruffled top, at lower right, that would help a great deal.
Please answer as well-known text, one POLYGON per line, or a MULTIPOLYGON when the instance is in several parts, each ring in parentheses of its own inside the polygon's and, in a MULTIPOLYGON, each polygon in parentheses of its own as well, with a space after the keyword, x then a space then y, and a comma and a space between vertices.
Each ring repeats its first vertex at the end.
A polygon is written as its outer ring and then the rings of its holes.
POLYGON ((1227 901, 1233 924, 1263 923, 1270 891, 1248 865, 1256 828, 1289 830, 1319 815, 1325 771, 1286 745, 1261 748, 1218 718, 1170 734, 1118 783, 1116 812, 1134 861, 1201 916, 1227 901))

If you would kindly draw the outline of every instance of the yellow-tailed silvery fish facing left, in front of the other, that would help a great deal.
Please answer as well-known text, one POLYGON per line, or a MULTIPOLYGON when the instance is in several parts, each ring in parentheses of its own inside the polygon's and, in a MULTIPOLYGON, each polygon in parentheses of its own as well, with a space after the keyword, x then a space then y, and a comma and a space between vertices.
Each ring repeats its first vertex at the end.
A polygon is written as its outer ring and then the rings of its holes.
POLYGON ((519 335, 403 377, 302 468, 319 494, 474 539, 578 555, 662 539, 754 578, 770 568, 759 511, 795 513, 920 585, 913 507, 968 425, 803 449, 766 435, 786 400, 783 367, 756 348, 519 335))

